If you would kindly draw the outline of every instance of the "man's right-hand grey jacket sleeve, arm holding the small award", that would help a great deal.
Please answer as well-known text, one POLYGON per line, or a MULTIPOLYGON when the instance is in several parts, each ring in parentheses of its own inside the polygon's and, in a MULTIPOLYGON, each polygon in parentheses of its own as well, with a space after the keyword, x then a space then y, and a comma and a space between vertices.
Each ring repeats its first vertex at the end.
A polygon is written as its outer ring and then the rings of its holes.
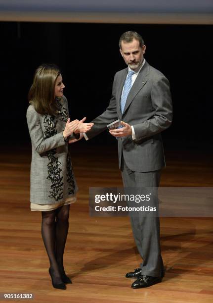
POLYGON ((172 121, 172 102, 170 83, 165 76, 161 76, 153 82, 151 90, 154 115, 148 120, 133 125, 136 139, 144 139, 167 129, 172 121))

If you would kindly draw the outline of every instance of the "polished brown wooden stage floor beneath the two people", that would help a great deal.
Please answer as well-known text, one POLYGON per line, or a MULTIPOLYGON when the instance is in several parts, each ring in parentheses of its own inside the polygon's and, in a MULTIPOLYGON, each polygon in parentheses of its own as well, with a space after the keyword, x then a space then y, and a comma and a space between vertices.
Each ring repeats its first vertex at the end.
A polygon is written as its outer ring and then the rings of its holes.
MULTIPOLYGON (((116 147, 75 144, 79 185, 71 205, 64 263, 73 284, 53 289, 41 237, 41 213, 29 203, 31 147, 2 148, 0 293, 32 293, 32 302, 213 302, 213 218, 161 218, 162 283, 133 290, 125 274, 140 262, 128 217, 90 217, 89 187, 122 186, 116 147)), ((167 151, 162 186, 213 187, 212 154, 167 151)), ((28 300, 27 302, 30 302, 28 300)))

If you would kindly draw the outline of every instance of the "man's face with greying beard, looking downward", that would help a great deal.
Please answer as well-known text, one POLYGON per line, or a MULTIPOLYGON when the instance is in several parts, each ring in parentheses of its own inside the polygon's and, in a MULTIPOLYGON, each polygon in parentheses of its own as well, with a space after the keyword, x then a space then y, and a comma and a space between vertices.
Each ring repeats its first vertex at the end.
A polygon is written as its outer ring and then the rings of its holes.
POLYGON ((132 70, 135 70, 142 64, 145 50, 145 45, 141 48, 139 41, 133 39, 132 42, 129 43, 122 41, 120 52, 127 65, 132 70))

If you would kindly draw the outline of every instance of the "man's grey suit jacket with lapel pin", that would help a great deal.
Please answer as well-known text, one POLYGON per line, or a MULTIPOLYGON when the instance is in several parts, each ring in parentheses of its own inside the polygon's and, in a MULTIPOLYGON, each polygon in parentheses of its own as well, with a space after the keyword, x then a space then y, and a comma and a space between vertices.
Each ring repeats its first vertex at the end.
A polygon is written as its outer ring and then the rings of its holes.
POLYGON ((134 127, 136 139, 132 140, 132 136, 118 139, 119 167, 123 153, 132 171, 159 170, 165 166, 160 133, 172 120, 170 83, 146 61, 131 87, 122 114, 120 100, 127 74, 128 68, 115 74, 109 106, 92 121, 94 126, 86 135, 90 139, 104 131, 107 124, 116 119, 123 120, 134 127))

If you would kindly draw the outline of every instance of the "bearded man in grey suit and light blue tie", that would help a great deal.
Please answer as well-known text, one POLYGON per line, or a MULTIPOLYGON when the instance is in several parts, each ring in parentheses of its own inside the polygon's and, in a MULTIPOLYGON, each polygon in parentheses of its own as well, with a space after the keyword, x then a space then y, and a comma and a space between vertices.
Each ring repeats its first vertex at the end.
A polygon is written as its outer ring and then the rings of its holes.
MULTIPOLYGON (((157 188, 165 158, 161 132, 172 120, 168 79, 144 59, 146 46, 136 32, 125 32, 120 52, 128 68, 115 74, 112 98, 106 110, 92 122, 88 139, 104 131, 106 125, 120 119, 123 128, 110 130, 118 138, 119 167, 125 187, 157 188)), ((126 274, 136 278, 132 288, 161 282, 164 266, 160 251, 158 216, 130 216, 134 240, 143 261, 126 274)))

